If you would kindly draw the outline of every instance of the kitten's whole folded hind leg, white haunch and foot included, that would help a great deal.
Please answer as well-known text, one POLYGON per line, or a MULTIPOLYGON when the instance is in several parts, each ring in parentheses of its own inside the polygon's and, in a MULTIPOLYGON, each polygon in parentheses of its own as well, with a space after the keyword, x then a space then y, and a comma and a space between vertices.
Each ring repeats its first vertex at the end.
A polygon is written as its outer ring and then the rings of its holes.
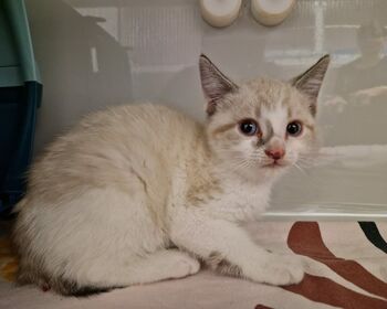
POLYGON ((142 203, 139 194, 106 188, 43 209, 39 221, 22 213, 24 226, 38 226, 39 237, 19 228, 22 258, 30 266, 21 269, 20 278, 36 285, 43 278, 63 295, 85 295, 198 271, 198 260, 187 253, 166 249, 167 236, 142 203))

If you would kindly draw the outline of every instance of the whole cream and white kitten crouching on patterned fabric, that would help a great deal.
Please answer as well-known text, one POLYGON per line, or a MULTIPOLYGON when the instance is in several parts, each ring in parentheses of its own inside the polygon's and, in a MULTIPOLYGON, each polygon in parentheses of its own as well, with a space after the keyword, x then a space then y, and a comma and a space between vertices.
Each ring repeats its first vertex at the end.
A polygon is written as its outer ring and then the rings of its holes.
POLYGON ((83 119, 31 169, 18 205, 19 283, 87 295, 180 278, 199 260, 271 285, 299 283, 296 257, 257 246, 241 222, 315 147, 328 56, 290 83, 237 85, 200 57, 208 121, 150 104, 83 119))

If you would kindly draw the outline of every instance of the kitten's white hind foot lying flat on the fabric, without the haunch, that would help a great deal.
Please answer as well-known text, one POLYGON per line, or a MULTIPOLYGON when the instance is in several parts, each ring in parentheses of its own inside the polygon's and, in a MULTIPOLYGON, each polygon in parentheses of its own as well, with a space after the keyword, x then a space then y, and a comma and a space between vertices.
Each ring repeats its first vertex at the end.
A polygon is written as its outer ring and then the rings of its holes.
POLYGON ((184 278, 199 271, 200 264, 178 249, 161 249, 127 263, 91 260, 76 276, 51 277, 49 287, 67 296, 85 296, 113 288, 184 278))

